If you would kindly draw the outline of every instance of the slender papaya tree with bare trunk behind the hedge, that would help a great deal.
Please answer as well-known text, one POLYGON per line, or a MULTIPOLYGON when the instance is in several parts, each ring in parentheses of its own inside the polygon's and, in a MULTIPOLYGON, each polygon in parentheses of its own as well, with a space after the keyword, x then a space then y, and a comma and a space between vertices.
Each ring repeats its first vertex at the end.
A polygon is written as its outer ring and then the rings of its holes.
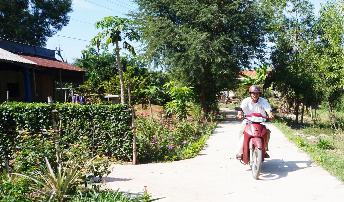
POLYGON ((125 38, 128 38, 130 41, 139 40, 139 35, 137 32, 134 31, 132 25, 133 21, 121 18, 117 16, 109 16, 104 17, 101 21, 96 22, 95 27, 105 29, 103 32, 99 32, 97 36, 92 38, 91 44, 97 46, 99 50, 99 45, 102 43, 101 41, 104 38, 106 39, 105 44, 116 44, 116 56, 117 56, 117 65, 118 65, 118 72, 120 76, 120 83, 121 83, 121 103, 126 103, 125 97, 125 86, 124 86, 124 79, 123 79, 123 70, 121 66, 121 60, 119 56, 119 46, 118 42, 123 41, 123 47, 128 49, 133 55, 136 55, 134 48, 125 41, 125 38))

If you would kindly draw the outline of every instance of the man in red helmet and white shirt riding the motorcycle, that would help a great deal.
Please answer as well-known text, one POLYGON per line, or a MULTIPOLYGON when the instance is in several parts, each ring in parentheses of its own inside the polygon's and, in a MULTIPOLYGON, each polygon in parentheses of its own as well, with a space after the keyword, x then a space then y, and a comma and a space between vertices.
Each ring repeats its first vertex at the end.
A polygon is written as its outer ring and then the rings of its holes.
MULTIPOLYGON (((250 97, 247 97, 243 100, 243 102, 241 103, 240 107, 241 109, 243 109, 243 111, 245 112, 245 115, 250 115, 252 113, 260 113, 263 116, 265 115, 265 111, 268 113, 268 117, 270 118, 270 120, 275 120, 275 117, 272 115, 271 113, 271 107, 268 103, 268 101, 262 97, 259 97, 261 91, 259 86, 257 85, 252 85, 249 90, 248 93, 250 94, 250 97)), ((238 119, 243 119, 243 111, 238 111, 238 119)), ((246 124, 251 123, 251 121, 244 119, 243 122, 241 123, 241 130, 239 132, 239 140, 241 139, 241 136, 243 136, 244 132, 245 132, 245 127, 246 124)), ((260 124, 264 124, 265 123, 260 123, 260 124)), ((271 131, 268 129, 268 127, 266 127, 267 129, 267 133, 268 133, 268 137, 267 137, 267 148, 266 151, 269 151, 269 140, 270 140, 270 133, 271 131)), ((265 158, 269 158, 269 154, 265 153, 265 158)), ((243 158, 243 154, 237 154, 237 159, 241 160, 243 158)))

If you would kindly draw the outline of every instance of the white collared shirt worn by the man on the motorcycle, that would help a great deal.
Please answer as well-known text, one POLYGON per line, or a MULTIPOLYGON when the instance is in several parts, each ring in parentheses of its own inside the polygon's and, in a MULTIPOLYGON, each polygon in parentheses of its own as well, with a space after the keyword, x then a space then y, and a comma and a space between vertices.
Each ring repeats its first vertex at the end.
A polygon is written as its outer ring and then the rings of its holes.
MULTIPOLYGON (((268 101, 262 97, 258 98, 257 103, 253 103, 251 97, 247 97, 243 100, 240 107, 241 109, 243 109, 245 115, 250 115, 252 113, 260 113, 262 114, 262 116, 266 116, 265 111, 268 112, 268 110, 271 110, 268 101)), ((252 123, 251 121, 244 119, 243 123, 246 122, 252 123)), ((265 125, 264 122, 262 122, 261 124, 265 125)))

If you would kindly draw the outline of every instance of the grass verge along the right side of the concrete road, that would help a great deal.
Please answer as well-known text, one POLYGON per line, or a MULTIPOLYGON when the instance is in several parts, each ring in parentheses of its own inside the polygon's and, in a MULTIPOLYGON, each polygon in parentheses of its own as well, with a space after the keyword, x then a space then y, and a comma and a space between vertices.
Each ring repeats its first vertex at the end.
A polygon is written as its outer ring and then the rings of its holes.
POLYGON ((321 128, 305 128, 301 130, 294 130, 287 126, 286 122, 277 117, 273 124, 287 136, 289 140, 306 152, 311 159, 318 165, 322 166, 331 175, 341 180, 344 183, 344 143, 336 140, 331 131, 321 128), (305 138, 294 135, 296 132, 303 134, 305 138), (324 136, 323 134, 326 134, 324 136), (314 139, 307 139, 309 136, 316 136, 314 139), (316 144, 319 139, 333 141, 333 149, 320 149, 316 144))

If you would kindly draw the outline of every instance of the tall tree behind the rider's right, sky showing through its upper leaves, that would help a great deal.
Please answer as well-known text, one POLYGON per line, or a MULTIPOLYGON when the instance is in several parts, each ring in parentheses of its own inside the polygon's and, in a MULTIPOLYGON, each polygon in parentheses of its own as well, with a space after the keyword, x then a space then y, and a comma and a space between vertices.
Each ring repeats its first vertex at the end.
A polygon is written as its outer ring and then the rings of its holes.
POLYGON ((312 88, 308 57, 314 41, 313 4, 308 0, 267 0, 265 4, 274 15, 271 25, 275 31, 270 37, 275 46, 270 55, 272 76, 268 76, 267 84, 272 82, 283 93, 281 110, 294 112, 298 124, 300 102, 309 100, 312 88))

